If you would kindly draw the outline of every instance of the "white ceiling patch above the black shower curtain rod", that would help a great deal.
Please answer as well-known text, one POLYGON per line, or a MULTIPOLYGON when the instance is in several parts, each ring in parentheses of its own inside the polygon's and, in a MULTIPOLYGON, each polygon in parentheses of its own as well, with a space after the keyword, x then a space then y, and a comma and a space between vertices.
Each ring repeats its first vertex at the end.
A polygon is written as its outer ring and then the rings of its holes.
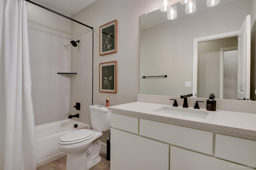
POLYGON ((33 0, 34 2, 40 2, 40 4, 46 4, 52 8, 60 10, 66 14, 72 16, 78 11, 84 9, 95 0, 33 0))

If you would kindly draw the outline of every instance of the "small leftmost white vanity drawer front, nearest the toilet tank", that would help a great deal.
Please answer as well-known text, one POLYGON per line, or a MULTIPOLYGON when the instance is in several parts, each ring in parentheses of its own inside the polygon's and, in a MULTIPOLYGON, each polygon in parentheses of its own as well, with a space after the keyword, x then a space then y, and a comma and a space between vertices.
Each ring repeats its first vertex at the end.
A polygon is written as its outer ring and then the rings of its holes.
POLYGON ((138 118, 111 113, 111 127, 138 134, 138 118))

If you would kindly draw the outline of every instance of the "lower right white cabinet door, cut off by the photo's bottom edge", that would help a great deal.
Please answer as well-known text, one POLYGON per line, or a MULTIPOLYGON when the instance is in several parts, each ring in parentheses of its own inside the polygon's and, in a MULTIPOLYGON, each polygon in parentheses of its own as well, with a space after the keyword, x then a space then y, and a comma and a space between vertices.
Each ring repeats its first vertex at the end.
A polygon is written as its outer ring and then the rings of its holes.
POLYGON ((170 147, 170 170, 230 170, 237 164, 190 150, 170 147))

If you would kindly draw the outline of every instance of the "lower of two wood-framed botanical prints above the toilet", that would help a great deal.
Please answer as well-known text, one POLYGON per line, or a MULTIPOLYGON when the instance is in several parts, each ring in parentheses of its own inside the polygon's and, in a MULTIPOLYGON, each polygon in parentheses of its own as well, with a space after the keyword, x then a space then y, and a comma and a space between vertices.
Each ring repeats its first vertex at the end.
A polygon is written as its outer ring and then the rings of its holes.
POLYGON ((117 92, 117 62, 100 63, 100 92, 117 92))

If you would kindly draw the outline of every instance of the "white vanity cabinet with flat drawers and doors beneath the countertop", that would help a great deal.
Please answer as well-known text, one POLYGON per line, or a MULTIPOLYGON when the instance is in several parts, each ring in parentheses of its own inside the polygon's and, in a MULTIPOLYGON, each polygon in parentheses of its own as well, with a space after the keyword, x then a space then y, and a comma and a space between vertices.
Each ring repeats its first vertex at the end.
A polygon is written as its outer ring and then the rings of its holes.
MULTIPOLYGON (((143 112, 141 103, 136 104, 138 111, 133 104, 112 110, 111 170, 256 169, 256 141, 249 135, 234 137, 236 133, 214 129, 217 124, 201 128, 180 123, 182 119, 167 121, 167 116, 143 112)), ((153 104, 144 105, 154 109, 153 104)))

